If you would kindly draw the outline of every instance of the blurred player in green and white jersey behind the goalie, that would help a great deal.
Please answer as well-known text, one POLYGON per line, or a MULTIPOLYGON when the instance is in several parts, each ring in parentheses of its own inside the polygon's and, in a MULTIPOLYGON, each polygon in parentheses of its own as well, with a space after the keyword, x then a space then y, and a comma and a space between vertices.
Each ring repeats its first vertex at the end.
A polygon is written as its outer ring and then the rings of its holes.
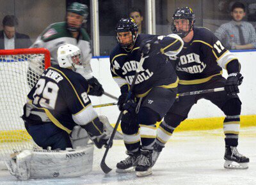
POLYGON ((83 75, 91 87, 90 95, 101 96, 102 85, 92 76, 90 59, 92 59, 90 38, 82 26, 88 15, 88 7, 81 3, 72 3, 67 8, 66 22, 58 22, 48 26, 36 39, 32 48, 47 48, 51 52, 51 64, 57 64, 57 50, 60 45, 70 43, 80 48, 84 68, 76 70, 83 75))

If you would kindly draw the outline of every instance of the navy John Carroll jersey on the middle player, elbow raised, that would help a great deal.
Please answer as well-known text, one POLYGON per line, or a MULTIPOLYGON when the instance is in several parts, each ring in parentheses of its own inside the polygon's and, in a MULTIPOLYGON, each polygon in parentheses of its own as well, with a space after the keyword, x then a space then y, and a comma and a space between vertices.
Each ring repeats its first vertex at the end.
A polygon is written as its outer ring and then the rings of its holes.
MULTIPOLYGON (((116 45, 110 55, 111 74, 115 82, 122 87, 125 84, 132 84, 132 80, 140 63, 141 53, 139 52, 141 41, 152 40, 157 36, 150 34, 139 34, 134 47, 127 52, 120 45, 116 45)), ((178 78, 172 63, 168 61, 168 57, 163 55, 164 52, 172 52, 177 54, 182 48, 181 39, 158 36, 156 48, 151 45, 150 51, 159 50, 157 54, 145 59, 143 70, 139 73, 134 85, 133 93, 137 97, 146 96, 152 87, 162 86, 164 88, 177 87, 178 78), (162 53, 160 52, 162 51, 162 53)))

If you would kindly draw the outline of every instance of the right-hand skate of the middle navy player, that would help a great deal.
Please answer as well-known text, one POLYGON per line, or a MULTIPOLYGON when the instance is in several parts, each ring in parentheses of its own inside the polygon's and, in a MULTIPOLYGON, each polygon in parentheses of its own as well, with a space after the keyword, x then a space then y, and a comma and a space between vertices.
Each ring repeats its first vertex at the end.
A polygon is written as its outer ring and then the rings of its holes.
POLYGON ((152 152, 153 151, 141 149, 141 155, 138 158, 138 165, 135 168, 136 175, 138 177, 143 177, 152 174, 152 152))

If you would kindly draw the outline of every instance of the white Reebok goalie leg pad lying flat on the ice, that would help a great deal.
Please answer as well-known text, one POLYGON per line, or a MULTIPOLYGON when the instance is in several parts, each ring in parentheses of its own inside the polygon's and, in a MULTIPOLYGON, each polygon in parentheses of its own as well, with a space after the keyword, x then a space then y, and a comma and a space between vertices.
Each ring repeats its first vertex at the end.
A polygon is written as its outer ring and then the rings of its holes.
POLYGON ((6 162, 19 180, 79 177, 92 171, 93 145, 65 151, 22 151, 6 162))

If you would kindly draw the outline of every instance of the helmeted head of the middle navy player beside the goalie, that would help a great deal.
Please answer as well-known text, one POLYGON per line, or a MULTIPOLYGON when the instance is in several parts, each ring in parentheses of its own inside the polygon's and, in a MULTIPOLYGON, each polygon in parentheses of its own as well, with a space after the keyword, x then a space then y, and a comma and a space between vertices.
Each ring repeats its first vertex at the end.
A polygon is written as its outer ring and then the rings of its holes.
POLYGON ((138 36, 138 25, 132 18, 121 18, 116 24, 116 39, 124 49, 130 49, 138 36))

